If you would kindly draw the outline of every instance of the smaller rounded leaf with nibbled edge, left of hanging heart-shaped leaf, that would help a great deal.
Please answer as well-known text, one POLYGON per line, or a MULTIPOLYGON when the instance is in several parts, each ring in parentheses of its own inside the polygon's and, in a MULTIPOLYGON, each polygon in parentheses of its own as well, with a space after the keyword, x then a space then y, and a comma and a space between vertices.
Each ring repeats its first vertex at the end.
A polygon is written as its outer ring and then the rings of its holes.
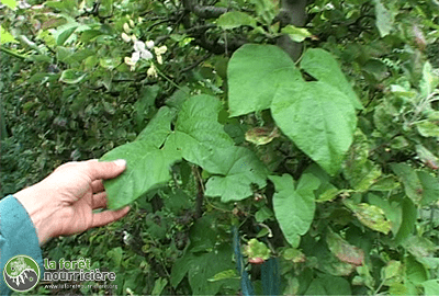
POLYGON ((266 186, 268 171, 247 148, 232 146, 216 149, 205 164, 221 174, 209 179, 205 195, 221 196, 223 203, 249 197, 254 193, 252 185, 259 189, 266 186))

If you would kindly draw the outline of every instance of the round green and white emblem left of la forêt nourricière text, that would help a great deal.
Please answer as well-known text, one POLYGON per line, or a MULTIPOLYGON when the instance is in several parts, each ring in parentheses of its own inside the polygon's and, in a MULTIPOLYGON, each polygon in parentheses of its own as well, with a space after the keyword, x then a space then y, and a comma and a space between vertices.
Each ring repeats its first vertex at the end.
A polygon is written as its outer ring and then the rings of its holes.
POLYGON ((4 265, 3 278, 15 292, 26 292, 40 282, 40 266, 29 255, 15 255, 4 265))

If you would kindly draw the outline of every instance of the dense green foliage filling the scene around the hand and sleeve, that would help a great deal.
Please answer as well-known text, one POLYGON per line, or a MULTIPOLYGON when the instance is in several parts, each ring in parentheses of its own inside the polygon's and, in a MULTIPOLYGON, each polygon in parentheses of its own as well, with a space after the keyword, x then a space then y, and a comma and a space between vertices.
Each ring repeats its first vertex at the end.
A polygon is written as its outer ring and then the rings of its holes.
POLYGON ((1 196, 128 163, 69 293, 439 294, 438 1, 1 2, 1 196))

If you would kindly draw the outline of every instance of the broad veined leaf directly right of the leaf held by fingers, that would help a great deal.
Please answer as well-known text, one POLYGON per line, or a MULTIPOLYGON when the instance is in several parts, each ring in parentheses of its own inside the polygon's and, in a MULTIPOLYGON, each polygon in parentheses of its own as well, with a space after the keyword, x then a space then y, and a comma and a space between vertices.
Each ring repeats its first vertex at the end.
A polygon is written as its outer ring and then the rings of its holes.
MULTIPOLYGON (((212 173, 223 173, 206 163, 217 148, 233 146, 233 139, 217 121, 221 102, 210 95, 196 95, 185 101, 179 113, 176 130, 168 141, 181 149, 189 162, 199 164, 212 173)), ((211 162, 212 163, 212 162, 211 162)))

